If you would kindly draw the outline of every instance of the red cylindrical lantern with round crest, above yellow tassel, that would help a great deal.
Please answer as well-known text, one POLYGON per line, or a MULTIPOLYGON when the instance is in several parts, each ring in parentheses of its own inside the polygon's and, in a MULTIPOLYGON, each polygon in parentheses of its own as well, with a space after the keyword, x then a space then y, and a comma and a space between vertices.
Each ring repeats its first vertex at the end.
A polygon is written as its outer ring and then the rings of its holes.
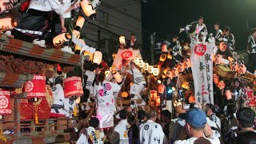
POLYGON ((27 93, 27 98, 45 98, 46 77, 35 74, 31 81, 24 84, 23 91, 27 93))

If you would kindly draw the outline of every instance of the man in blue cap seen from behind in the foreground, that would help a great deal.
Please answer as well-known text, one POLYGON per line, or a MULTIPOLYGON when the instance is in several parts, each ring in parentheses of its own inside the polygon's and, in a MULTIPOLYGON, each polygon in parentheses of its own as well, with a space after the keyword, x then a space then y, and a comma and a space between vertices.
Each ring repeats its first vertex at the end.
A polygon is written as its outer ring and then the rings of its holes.
POLYGON ((183 141, 176 141, 174 144, 193 144, 198 143, 198 141, 201 143, 220 143, 218 138, 214 137, 210 126, 207 124, 206 114, 198 108, 190 109, 186 112, 185 127, 190 138, 183 141))

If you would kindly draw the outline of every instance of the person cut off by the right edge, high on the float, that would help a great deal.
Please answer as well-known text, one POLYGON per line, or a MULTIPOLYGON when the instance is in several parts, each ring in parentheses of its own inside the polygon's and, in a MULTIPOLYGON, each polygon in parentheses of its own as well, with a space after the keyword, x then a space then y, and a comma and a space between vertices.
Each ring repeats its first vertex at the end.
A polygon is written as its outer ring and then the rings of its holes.
POLYGON ((251 30, 251 35, 247 43, 247 51, 249 52, 247 70, 254 74, 254 70, 256 70, 256 28, 251 30))

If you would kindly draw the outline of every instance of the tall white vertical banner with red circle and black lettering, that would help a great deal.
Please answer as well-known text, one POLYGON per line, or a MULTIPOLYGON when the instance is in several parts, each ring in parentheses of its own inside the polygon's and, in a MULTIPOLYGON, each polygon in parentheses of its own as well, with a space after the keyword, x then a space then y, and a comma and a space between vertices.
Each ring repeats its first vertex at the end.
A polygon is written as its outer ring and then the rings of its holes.
POLYGON ((214 104, 213 49, 215 44, 191 45, 191 65, 196 102, 214 104))

